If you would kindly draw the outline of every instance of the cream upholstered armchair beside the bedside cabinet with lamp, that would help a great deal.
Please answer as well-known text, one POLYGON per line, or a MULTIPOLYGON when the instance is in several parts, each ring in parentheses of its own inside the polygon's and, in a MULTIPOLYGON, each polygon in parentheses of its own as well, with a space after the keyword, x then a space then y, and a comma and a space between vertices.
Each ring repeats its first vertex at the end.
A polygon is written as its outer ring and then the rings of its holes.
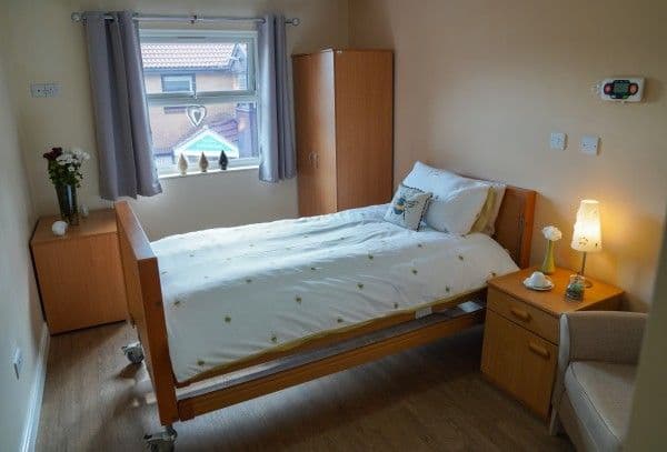
POLYGON ((581 311, 560 318, 551 434, 579 451, 618 451, 626 438, 646 314, 581 311))

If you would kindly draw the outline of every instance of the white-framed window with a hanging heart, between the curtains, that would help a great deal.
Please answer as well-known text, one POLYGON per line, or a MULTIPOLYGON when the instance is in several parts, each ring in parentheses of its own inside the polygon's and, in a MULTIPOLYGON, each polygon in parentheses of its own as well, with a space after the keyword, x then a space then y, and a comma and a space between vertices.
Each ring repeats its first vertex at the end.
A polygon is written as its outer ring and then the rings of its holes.
POLYGON ((257 165, 257 34, 253 31, 141 31, 143 81, 158 173, 257 165))

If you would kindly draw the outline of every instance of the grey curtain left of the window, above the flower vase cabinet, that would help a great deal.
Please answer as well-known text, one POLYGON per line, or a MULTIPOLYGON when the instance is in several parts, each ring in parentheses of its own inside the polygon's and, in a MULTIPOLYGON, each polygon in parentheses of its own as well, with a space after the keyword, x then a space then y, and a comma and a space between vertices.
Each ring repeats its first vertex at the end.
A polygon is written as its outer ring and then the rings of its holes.
POLYGON ((137 24, 130 11, 86 12, 84 23, 100 195, 152 197, 162 188, 151 150, 137 24))

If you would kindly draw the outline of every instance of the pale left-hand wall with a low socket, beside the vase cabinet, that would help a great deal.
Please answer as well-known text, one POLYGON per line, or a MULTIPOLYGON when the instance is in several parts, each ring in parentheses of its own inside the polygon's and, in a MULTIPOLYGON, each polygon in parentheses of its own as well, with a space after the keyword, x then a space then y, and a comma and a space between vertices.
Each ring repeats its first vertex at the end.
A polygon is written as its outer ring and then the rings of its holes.
MULTIPOLYGON (((6 42, 2 22, 0 19, 0 43, 6 42)), ((41 400, 38 386, 44 369, 40 348, 43 353, 47 337, 28 251, 34 214, 6 72, 0 52, 0 449, 17 451, 30 425, 31 400, 41 400), (17 346, 23 352, 20 380, 12 368, 17 346)))

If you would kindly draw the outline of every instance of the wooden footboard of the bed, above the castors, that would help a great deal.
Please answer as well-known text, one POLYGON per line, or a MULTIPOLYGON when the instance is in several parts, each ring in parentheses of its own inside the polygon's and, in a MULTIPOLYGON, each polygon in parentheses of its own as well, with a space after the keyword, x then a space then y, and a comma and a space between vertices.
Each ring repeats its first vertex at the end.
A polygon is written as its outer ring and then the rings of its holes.
POLYGON ((162 425, 179 420, 176 379, 171 370, 158 259, 126 201, 116 203, 118 240, 130 320, 143 346, 162 425))

